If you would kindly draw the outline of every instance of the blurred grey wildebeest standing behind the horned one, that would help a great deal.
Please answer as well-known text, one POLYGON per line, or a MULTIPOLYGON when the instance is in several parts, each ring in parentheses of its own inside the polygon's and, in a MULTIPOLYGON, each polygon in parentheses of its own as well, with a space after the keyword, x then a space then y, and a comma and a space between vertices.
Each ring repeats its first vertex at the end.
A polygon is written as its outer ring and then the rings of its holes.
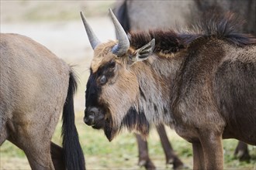
MULTIPOLYGON (((240 15, 241 19, 246 20, 243 25, 239 26, 239 32, 251 33, 256 36, 256 22, 255 22, 255 2, 252 0, 193 0, 193 1, 117 1, 115 5, 116 18, 126 32, 134 30, 148 30, 148 29, 168 29, 175 28, 175 26, 192 27, 198 20, 203 19, 206 12, 213 10, 213 12, 227 12, 231 11, 240 15), (170 17, 171 16, 171 17, 170 17)), ((158 132, 158 131, 157 131, 158 132)), ((160 137, 164 136, 164 129, 159 131, 160 137)), ((140 139, 137 135, 139 150, 146 150, 147 141, 140 139), (145 143, 144 143, 145 142, 145 143)), ((170 145, 168 138, 161 138, 162 145, 170 145)), ((165 148, 165 147, 164 147, 165 148)), ((169 150, 165 150, 168 153, 169 150)), ((144 151, 146 155, 140 155, 140 162, 144 162, 145 167, 153 168, 154 164, 150 161, 148 151, 144 151), (143 160, 143 161, 141 161, 143 160)), ((240 160, 248 160, 250 155, 248 153, 247 145, 239 142, 234 152, 240 160)), ((166 160, 174 160, 174 167, 180 165, 180 160, 175 158, 175 155, 166 155, 166 160)), ((170 162, 169 162, 170 163, 170 162)), ((140 164, 141 165, 141 164, 140 164)))

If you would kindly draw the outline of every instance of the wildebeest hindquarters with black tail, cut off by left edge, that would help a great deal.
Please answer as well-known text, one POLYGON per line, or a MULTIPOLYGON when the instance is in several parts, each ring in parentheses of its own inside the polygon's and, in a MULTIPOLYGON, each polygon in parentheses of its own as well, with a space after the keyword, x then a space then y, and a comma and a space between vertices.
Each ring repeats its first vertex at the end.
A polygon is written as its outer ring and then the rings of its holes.
POLYGON ((0 40, 0 145, 21 148, 32 169, 85 169, 71 66, 26 36, 2 33, 0 40), (51 142, 61 111, 63 148, 51 142))

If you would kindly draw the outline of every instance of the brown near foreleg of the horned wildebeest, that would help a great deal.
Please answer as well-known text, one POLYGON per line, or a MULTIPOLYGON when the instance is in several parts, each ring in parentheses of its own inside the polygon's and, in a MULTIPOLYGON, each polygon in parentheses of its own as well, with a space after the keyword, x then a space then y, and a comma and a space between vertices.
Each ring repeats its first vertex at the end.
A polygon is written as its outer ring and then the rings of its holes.
POLYGON ((205 169, 223 169, 222 135, 212 131, 200 131, 199 140, 202 145, 205 169))

